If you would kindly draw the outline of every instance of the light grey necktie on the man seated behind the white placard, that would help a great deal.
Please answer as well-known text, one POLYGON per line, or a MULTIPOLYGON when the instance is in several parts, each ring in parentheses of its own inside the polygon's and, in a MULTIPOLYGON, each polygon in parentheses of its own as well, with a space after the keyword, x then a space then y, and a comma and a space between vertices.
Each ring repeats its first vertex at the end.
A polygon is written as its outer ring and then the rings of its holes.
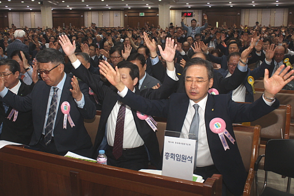
POLYGON ((198 113, 198 104, 194 104, 193 107, 195 108, 195 114, 191 122, 189 133, 193 133, 194 135, 189 135, 189 139, 196 140, 196 147, 195 147, 195 161, 194 161, 194 170, 196 169, 196 158, 197 158, 197 148, 198 148, 198 130, 199 130, 199 113, 198 113))

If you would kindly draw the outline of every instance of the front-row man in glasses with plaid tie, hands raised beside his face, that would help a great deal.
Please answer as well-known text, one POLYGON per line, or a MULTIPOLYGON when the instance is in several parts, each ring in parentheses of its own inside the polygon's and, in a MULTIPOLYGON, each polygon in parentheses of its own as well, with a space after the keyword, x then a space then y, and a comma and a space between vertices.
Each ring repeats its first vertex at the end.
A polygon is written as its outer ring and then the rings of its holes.
POLYGON ((8 91, 0 78, 1 101, 19 111, 32 110, 34 132, 30 147, 59 155, 72 151, 91 157, 93 147, 83 121, 96 114, 89 87, 64 73, 64 57, 58 50, 41 50, 36 59, 43 81, 38 81, 29 95, 20 97, 8 91), (71 118, 68 115, 64 123, 64 114, 68 113, 71 118))

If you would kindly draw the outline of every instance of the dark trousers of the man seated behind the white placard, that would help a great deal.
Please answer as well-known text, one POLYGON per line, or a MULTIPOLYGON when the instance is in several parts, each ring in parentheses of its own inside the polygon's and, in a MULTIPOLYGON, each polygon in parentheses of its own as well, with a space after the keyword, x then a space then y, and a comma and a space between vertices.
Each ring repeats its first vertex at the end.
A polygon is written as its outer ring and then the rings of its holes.
MULTIPOLYGON (((206 167, 196 167, 196 170, 194 170, 193 173, 195 173, 197 175, 201 175, 204 180, 211 177, 213 174, 221 174, 214 165, 206 166, 206 167)), ((227 190, 227 188, 226 188, 224 182, 222 181, 221 196, 227 195, 226 190, 227 190)))

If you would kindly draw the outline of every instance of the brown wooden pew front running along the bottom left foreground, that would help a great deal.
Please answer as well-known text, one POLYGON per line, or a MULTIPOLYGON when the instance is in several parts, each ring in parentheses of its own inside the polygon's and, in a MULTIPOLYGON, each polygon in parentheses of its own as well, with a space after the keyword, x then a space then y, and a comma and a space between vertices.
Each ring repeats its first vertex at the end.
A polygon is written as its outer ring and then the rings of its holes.
POLYGON ((23 147, 0 149, 0 196, 221 196, 221 186, 219 174, 198 183, 23 147))

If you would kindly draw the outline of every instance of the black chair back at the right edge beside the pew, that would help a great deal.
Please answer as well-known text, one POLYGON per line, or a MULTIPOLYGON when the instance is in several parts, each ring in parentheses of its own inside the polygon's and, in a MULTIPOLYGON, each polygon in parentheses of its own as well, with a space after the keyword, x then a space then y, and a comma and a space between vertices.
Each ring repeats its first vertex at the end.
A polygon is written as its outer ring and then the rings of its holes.
POLYGON ((265 155, 265 171, 294 178, 294 140, 269 140, 265 155))

